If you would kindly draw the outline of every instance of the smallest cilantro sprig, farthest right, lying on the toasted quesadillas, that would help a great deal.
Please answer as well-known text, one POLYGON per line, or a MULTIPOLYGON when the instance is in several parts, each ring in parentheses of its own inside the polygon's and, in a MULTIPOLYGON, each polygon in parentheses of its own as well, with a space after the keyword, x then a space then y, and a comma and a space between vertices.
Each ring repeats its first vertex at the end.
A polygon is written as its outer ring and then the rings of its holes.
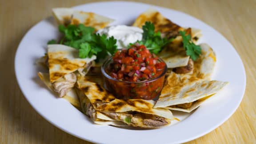
POLYGON ((186 50, 186 55, 190 56, 192 60, 196 60, 201 54, 201 47, 192 42, 191 36, 186 35, 186 32, 179 31, 182 36, 182 42, 184 49, 186 50))

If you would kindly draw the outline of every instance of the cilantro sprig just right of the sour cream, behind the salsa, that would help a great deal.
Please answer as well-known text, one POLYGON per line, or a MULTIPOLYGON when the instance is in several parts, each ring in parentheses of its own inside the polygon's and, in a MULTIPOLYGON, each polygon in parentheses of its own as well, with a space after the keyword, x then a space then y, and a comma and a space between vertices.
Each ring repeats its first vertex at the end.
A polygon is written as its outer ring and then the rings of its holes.
MULTIPOLYGON (((155 32, 155 26, 149 21, 146 21, 142 26, 143 35, 142 40, 137 41, 136 43, 143 44, 146 48, 152 53, 159 53, 162 48, 173 39, 167 39, 166 37, 162 38, 160 32, 155 32)), ((130 44, 130 46, 133 44, 130 44)))

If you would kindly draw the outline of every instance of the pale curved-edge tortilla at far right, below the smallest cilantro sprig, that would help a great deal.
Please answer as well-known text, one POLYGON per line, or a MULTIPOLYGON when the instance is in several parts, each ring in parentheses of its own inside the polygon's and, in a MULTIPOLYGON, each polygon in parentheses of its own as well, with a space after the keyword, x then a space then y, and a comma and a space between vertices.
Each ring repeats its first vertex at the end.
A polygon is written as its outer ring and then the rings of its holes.
POLYGON ((193 76, 210 80, 216 64, 215 52, 208 44, 200 44, 202 54, 194 61, 193 76))

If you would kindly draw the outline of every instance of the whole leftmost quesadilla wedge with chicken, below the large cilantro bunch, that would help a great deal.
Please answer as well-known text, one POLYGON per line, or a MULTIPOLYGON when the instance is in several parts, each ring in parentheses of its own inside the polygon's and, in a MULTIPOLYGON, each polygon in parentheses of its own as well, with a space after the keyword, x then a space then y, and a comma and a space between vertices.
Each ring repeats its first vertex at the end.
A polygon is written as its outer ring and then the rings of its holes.
POLYGON ((75 48, 61 44, 50 44, 48 45, 48 55, 44 64, 48 67, 49 74, 39 73, 39 76, 48 88, 63 97, 74 87, 76 73, 84 76, 95 59, 96 56, 81 59, 78 56, 78 50, 75 48))

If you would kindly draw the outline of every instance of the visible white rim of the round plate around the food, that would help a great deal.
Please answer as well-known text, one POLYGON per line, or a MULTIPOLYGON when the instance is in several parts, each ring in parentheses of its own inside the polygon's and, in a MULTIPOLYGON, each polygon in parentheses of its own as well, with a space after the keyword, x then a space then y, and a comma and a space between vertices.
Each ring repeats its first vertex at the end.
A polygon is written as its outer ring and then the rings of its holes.
MULTIPOLYGON (((203 38, 216 52, 217 63, 214 80, 229 81, 223 91, 207 100, 188 118, 160 129, 129 130, 92 124, 81 112, 66 100, 56 98, 40 82, 35 60, 46 52, 48 40, 58 38, 53 18, 40 21, 21 41, 16 52, 15 71, 20 89, 36 111, 56 127, 81 139, 106 144, 169 144, 183 143, 211 132, 236 111, 245 90, 244 66, 233 46, 219 32, 200 20, 167 8, 133 2, 103 2, 75 7, 116 19, 113 24, 132 24, 140 13, 153 7, 173 22, 183 26, 200 28, 203 38)), ((186 115, 187 116, 187 115, 186 115)), ((186 117, 185 116, 185 117, 186 117)))

